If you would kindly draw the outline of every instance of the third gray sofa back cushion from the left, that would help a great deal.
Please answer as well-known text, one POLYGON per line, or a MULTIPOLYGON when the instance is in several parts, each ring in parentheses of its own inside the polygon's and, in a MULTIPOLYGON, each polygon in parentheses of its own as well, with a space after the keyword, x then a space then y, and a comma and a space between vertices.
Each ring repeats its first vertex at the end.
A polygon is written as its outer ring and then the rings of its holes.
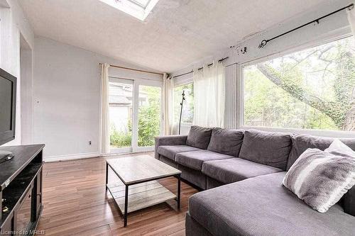
POLYGON ((246 130, 239 157, 285 170, 291 146, 288 133, 246 130))

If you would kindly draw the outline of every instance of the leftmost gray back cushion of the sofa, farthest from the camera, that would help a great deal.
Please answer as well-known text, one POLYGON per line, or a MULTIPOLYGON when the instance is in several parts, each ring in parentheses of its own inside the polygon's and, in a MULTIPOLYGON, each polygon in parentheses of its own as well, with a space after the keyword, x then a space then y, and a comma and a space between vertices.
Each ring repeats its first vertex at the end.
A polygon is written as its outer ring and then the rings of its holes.
POLYGON ((207 149, 209 140, 211 139, 212 128, 204 128, 197 125, 192 125, 189 135, 187 135, 186 145, 207 149))

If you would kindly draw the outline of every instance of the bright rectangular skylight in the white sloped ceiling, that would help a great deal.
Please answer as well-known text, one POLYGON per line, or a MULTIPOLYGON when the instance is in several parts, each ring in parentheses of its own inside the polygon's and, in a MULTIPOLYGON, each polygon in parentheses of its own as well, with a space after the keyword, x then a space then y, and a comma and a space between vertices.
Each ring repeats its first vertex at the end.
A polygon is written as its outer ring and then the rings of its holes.
POLYGON ((144 21, 159 0, 99 0, 144 21))

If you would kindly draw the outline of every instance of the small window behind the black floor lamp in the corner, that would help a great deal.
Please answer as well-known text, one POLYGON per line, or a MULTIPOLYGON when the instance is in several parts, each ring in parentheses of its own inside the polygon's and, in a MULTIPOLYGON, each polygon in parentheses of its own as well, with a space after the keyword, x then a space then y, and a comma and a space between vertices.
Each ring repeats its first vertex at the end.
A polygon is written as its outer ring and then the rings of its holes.
POLYGON ((174 88, 174 123, 176 126, 175 133, 178 133, 178 125, 180 119, 180 110, 181 110, 181 99, 182 99, 182 91, 185 91, 185 101, 182 106, 182 115, 181 115, 181 123, 182 123, 182 133, 186 133, 190 130, 190 126, 192 125, 192 121, 194 119, 194 84, 182 84, 180 86, 175 86, 174 88))

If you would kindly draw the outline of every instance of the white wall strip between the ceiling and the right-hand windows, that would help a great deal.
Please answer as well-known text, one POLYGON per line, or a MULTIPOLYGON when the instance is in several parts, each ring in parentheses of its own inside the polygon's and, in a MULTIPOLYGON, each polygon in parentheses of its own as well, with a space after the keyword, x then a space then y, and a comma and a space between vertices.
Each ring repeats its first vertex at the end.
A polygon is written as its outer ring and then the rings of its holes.
MULTIPOLYGON (((183 74, 185 72, 190 72, 192 69, 199 68, 202 64, 209 64, 213 60, 219 60, 223 57, 229 57, 224 60, 224 65, 228 66, 234 63, 245 63, 252 60, 257 60, 262 57, 267 57, 270 55, 275 55, 280 52, 286 52, 288 50, 294 49, 296 47, 301 48, 304 45, 309 45, 310 43, 317 44, 320 40, 324 38, 337 38, 339 35, 344 35, 346 33, 351 33, 349 26, 349 21, 346 18, 346 11, 341 11, 332 16, 324 18, 320 21, 318 25, 310 25, 299 30, 294 31, 288 35, 284 35, 278 39, 275 39, 268 43, 263 48, 258 48, 259 43, 263 39, 273 38, 280 33, 285 33, 297 26, 301 26, 304 23, 313 21, 316 18, 324 16, 332 11, 336 11, 344 6, 348 6, 348 0, 326 0, 323 4, 310 9, 309 11, 302 13, 299 16, 294 16, 288 21, 278 23, 272 28, 268 28, 261 33, 257 33, 245 40, 236 42, 236 46, 247 47, 246 54, 237 54, 235 50, 226 48, 224 51, 215 52, 209 57, 201 58, 196 62, 190 64, 189 67, 178 69, 175 72, 170 72, 170 75, 183 74)), ((354 11, 354 10, 353 10, 354 11)), ((238 27, 238 26, 236 26, 238 27)))

